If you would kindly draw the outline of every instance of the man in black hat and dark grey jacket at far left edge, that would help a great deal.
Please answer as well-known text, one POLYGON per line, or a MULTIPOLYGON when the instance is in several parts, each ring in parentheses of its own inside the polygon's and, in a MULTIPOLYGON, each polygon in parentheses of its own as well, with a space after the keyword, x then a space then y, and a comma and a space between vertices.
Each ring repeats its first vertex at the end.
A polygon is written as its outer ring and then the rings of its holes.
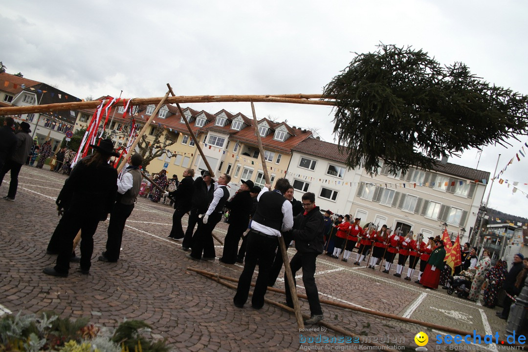
POLYGON ((20 173, 20 169, 24 165, 27 155, 30 153, 31 145, 33 144, 30 132, 30 124, 22 121, 18 127, 18 131, 16 131, 16 149, 11 157, 5 160, 4 166, 0 170, 0 186, 2 185, 5 174, 11 171, 11 181, 7 196, 2 198, 6 201, 13 202, 15 200, 16 189, 18 188, 18 173, 20 173))

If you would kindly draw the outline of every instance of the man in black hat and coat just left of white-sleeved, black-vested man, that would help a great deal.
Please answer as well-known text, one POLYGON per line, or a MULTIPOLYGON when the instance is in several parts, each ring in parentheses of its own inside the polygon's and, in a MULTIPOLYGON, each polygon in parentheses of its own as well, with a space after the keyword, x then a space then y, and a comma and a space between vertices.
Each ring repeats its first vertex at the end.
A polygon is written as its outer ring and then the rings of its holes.
POLYGON ((253 203, 249 191, 253 187, 252 180, 242 181, 237 193, 229 202, 225 203, 225 207, 231 211, 229 213, 229 228, 224 239, 224 250, 219 259, 222 263, 234 264, 237 262, 238 243, 249 225, 249 215, 253 203))

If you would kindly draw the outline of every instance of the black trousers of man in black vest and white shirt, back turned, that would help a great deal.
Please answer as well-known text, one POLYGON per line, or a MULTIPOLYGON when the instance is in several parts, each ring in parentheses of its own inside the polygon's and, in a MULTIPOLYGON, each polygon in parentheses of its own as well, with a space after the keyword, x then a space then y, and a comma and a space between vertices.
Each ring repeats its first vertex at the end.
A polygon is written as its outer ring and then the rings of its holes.
POLYGON ((262 308, 264 305, 264 296, 268 288, 269 270, 275 256, 277 245, 277 237, 263 236, 254 233, 252 230, 249 231, 246 261, 244 261, 244 269, 238 279, 237 293, 233 298, 235 305, 243 306, 248 300, 251 278, 258 263, 259 274, 257 276, 257 282, 255 283, 255 289, 253 290, 251 305, 253 308, 262 308))

